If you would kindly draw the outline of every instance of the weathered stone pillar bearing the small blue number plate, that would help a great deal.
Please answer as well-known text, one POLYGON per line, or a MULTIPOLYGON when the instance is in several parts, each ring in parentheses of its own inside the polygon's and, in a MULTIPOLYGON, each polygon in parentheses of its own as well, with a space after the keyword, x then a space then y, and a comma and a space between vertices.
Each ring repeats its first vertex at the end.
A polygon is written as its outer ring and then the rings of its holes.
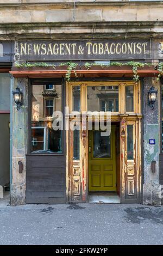
POLYGON ((145 78, 143 88, 143 204, 161 204, 159 184, 160 153, 160 83, 156 78, 145 78), (148 106, 148 90, 152 86, 158 90, 154 109, 148 106), (155 139, 155 145, 149 144, 155 139), (152 173, 151 162, 156 161, 156 172, 152 173))

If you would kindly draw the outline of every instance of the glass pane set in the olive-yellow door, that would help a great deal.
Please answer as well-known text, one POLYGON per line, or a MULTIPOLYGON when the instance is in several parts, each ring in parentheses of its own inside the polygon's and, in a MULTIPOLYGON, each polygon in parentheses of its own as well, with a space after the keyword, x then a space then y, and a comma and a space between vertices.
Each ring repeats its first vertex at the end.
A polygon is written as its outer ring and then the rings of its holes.
POLYGON ((93 131, 93 157, 104 158, 110 156, 110 136, 102 136, 101 131, 93 131))

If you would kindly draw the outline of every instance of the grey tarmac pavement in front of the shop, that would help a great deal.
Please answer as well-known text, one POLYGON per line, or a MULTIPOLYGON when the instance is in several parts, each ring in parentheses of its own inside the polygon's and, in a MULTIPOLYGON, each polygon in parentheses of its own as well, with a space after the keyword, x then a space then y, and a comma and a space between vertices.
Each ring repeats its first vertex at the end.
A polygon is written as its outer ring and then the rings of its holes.
POLYGON ((0 199, 0 245, 162 245, 163 206, 0 199))

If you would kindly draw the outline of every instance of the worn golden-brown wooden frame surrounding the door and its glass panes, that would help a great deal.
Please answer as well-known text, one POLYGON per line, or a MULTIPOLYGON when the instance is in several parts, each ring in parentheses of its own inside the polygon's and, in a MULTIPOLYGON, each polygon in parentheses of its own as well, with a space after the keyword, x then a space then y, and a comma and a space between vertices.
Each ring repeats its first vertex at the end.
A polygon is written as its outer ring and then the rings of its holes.
MULTIPOLYGON (((72 111, 72 86, 81 86, 80 93, 80 102, 83 109, 82 111, 87 111, 87 98, 86 98, 86 88, 87 86, 109 86, 115 85, 119 86, 119 112, 111 114, 112 122, 120 123, 120 196, 121 203, 140 203, 141 198, 141 90, 140 82, 134 81, 79 81, 79 82, 67 82, 66 83, 66 106, 70 107, 70 113, 72 111), (134 86, 134 111, 126 112, 125 102, 126 102, 126 86, 134 86), (135 155, 135 165, 132 171, 127 165, 127 125, 133 123, 135 125, 135 134, 134 138, 134 148, 136 148, 135 155), (129 194, 127 192, 127 183, 128 180, 131 180, 132 172, 136 172, 138 178, 136 178, 136 194, 129 194), (127 175, 127 176, 126 176, 127 175), (127 178, 126 178, 127 177, 127 178)), ((81 107, 82 108, 82 107, 81 107)), ((80 116, 80 121, 82 117, 80 116)), ((87 117, 85 117, 85 123, 87 127, 87 117)), ((67 131, 67 200, 70 202, 88 202, 89 196, 89 150, 88 150, 88 130, 80 131, 80 163, 78 166, 73 167, 73 149, 72 149, 72 133, 67 131), (70 150, 71 149, 71 150, 70 150), (73 194, 74 183, 78 183, 76 189, 78 195, 73 194), (80 185, 79 185, 80 184, 80 185)), ((134 176, 133 176, 134 177, 134 176)), ((134 178, 132 179, 133 182, 134 178)))

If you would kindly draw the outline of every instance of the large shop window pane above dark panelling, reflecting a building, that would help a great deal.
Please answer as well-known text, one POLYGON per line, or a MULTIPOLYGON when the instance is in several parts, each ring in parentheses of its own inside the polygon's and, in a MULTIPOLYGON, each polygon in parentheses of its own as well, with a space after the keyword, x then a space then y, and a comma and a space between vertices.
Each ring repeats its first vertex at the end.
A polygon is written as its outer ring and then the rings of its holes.
POLYGON ((47 99, 49 92, 48 94, 46 92, 43 84, 32 86, 31 151, 33 153, 61 153, 61 131, 53 129, 53 122, 56 119, 54 111, 62 110, 61 85, 53 87, 52 99, 47 99))

